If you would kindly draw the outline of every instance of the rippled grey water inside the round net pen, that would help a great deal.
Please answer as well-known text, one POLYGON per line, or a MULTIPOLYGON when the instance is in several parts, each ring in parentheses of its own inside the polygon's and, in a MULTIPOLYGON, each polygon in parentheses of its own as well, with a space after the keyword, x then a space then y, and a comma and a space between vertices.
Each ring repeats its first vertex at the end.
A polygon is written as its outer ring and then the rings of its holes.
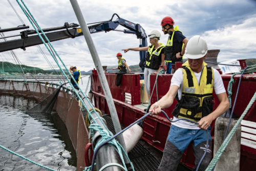
MULTIPOLYGON (((0 145, 55 170, 75 170, 76 155, 56 113, 26 114, 35 100, 0 95, 0 145)), ((0 148, 0 170, 45 170, 0 148)))

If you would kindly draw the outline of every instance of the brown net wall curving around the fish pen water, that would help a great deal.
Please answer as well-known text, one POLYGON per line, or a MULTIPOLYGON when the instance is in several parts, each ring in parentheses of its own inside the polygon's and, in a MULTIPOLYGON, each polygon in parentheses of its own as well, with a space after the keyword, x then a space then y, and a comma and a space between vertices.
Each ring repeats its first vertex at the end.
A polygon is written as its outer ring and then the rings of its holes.
MULTIPOLYGON (((55 88, 45 86, 40 83, 23 83, 15 81, 0 81, 0 94, 13 96, 23 96, 41 101, 53 93, 55 88)), ((82 111, 78 106, 78 101, 72 94, 63 90, 60 91, 54 110, 65 123, 73 147, 77 154, 77 170, 85 167, 84 148, 89 142, 88 130, 84 122, 82 111)))

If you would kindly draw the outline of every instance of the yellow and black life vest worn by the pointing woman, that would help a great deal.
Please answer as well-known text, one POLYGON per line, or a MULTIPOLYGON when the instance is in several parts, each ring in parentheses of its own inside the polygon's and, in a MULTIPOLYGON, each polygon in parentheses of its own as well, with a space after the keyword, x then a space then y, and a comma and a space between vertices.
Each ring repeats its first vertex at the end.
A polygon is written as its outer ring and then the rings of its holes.
POLYGON ((151 68, 158 70, 161 65, 161 51, 165 47, 162 43, 159 43, 160 46, 157 49, 154 49, 154 45, 151 45, 147 49, 146 54, 146 68, 151 68))

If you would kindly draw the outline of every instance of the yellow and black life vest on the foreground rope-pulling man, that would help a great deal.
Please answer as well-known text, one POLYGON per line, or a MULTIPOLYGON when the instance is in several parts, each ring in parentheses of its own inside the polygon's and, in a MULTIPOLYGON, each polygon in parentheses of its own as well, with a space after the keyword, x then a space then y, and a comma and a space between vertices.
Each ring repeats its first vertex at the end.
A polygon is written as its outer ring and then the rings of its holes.
POLYGON ((214 70, 203 62, 203 71, 201 73, 200 84, 194 72, 188 65, 188 61, 183 63, 183 81, 182 97, 175 106, 173 115, 178 118, 187 118, 193 121, 199 121, 207 116, 214 109, 214 70))

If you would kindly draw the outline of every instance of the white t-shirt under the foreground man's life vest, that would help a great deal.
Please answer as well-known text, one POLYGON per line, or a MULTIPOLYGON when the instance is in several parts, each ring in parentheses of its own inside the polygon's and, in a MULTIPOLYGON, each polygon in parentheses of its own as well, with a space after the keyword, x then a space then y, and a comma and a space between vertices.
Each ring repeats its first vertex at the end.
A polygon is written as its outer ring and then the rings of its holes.
MULTIPOLYGON (((203 71, 203 69, 202 69, 203 71)), ((197 81, 198 83, 200 83, 200 78, 201 78, 201 74, 202 74, 202 71, 200 73, 195 73, 195 76, 197 78, 197 81)), ((174 75, 173 75, 173 78, 170 82, 170 87, 172 86, 178 86, 179 87, 179 90, 178 90, 178 97, 179 99, 181 99, 181 96, 182 96, 182 79, 183 79, 183 72, 182 72, 182 69, 178 69, 174 75)), ((223 81, 222 81, 222 78, 221 78, 221 75, 220 73, 214 69, 214 91, 216 94, 221 94, 221 93, 224 93, 226 92, 225 88, 224 88, 224 84, 223 84, 223 81)), ((174 119, 173 120, 177 120, 178 118, 176 118, 174 116, 174 119)), ((182 127, 182 128, 185 128, 185 129, 191 129, 191 130, 198 130, 200 129, 196 124, 196 123, 193 123, 193 122, 189 122, 189 121, 186 121, 186 120, 179 120, 177 122, 174 122, 172 123, 173 125, 175 126, 178 126, 178 127, 182 127)))

